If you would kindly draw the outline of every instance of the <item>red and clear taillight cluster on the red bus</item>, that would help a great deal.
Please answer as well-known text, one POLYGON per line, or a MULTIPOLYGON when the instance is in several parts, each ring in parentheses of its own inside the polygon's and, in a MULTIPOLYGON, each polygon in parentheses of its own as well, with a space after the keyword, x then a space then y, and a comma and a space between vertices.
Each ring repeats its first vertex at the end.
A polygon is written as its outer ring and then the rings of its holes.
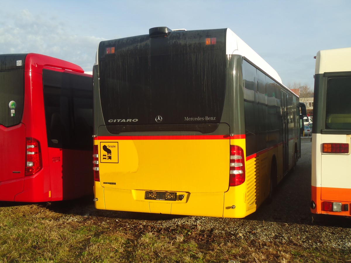
POLYGON ((26 138, 26 172, 25 175, 33 175, 42 168, 41 150, 39 141, 34 138, 26 138))

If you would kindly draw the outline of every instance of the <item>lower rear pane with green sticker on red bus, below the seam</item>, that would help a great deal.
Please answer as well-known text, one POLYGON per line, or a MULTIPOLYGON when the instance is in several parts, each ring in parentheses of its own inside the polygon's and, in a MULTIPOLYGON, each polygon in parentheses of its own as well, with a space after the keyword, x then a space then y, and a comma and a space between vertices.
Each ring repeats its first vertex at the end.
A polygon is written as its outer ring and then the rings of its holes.
POLYGON ((0 71, 0 124, 19 124, 24 104, 24 69, 0 71))

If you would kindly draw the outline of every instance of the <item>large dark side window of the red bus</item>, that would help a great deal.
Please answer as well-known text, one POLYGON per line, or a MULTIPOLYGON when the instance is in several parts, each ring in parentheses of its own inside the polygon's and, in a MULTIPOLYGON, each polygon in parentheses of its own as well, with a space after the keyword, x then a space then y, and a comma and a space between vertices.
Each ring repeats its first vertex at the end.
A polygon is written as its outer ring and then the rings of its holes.
POLYGON ((48 146, 92 150, 92 78, 43 70, 48 146))

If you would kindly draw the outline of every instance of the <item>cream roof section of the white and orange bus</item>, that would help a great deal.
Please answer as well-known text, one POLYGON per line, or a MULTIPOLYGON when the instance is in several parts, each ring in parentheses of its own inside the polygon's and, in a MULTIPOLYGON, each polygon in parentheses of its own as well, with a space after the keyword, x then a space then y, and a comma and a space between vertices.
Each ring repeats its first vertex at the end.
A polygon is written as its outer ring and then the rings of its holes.
POLYGON ((317 52, 314 74, 351 71, 351 47, 326 49, 317 52))

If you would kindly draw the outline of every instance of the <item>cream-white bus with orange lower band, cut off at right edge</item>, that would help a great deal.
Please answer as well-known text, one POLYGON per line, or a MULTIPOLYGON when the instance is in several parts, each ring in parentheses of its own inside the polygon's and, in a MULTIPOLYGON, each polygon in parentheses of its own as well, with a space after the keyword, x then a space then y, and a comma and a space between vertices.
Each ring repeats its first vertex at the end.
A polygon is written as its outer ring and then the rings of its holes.
POLYGON ((316 56, 311 211, 350 216, 351 47, 316 56))

